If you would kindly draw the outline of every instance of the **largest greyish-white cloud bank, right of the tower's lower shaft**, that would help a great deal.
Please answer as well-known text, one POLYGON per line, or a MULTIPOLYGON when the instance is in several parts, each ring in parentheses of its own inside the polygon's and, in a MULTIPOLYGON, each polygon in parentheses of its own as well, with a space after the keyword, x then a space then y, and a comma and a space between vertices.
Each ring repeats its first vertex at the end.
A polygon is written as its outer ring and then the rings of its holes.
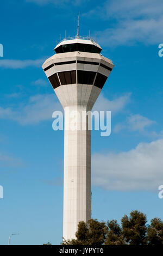
POLYGON ((112 191, 158 191, 163 184, 163 139, 121 153, 93 154, 93 184, 112 191))

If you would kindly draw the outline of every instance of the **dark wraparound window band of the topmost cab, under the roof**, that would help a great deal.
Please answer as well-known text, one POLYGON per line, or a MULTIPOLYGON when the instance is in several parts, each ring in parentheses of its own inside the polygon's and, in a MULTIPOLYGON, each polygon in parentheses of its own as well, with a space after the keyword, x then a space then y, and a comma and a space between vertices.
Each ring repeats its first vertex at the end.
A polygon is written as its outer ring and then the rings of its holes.
POLYGON ((98 48, 95 45, 87 45, 87 44, 68 44, 61 45, 55 49, 56 53, 62 52, 93 52, 93 53, 101 53, 101 48, 98 48))

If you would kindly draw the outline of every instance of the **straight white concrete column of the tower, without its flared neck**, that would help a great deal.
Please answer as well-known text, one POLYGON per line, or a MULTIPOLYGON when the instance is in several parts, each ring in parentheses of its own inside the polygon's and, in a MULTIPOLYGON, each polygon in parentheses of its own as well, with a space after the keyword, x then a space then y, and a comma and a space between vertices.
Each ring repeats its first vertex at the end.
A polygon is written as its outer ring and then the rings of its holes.
POLYGON ((76 238, 78 223, 91 218, 91 131, 87 129, 87 121, 86 106, 65 107, 63 237, 66 240, 76 238), (70 126, 74 123, 77 127, 72 130, 70 126), (83 123, 86 129, 78 130, 83 123))

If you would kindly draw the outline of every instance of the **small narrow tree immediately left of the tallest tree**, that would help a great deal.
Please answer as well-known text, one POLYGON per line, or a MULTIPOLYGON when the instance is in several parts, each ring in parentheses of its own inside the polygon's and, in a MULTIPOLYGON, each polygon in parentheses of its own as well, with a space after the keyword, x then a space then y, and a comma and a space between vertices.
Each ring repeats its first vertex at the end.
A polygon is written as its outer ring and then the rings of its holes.
POLYGON ((116 220, 107 222, 108 234, 106 236, 105 245, 124 245, 124 237, 122 229, 116 220))

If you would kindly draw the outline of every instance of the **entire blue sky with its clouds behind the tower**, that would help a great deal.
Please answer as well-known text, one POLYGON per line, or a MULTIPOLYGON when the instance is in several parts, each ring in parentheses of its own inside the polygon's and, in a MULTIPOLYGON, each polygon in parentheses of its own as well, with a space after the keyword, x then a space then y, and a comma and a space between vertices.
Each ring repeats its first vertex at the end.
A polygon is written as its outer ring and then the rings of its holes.
POLYGON ((0 244, 57 245, 62 237, 61 106, 41 64, 61 38, 89 30, 115 64, 94 109, 110 110, 111 135, 92 131, 92 217, 120 222, 140 210, 162 218, 163 3, 161 0, 22 0, 1 3, 0 244))

